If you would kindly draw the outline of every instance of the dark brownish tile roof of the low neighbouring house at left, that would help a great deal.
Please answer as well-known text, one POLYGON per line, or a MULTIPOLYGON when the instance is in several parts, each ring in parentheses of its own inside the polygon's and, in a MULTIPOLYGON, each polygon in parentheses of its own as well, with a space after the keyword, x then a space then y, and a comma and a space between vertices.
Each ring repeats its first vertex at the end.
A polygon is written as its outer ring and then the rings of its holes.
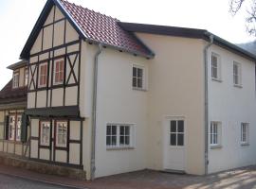
POLYGON ((0 91, 0 104, 26 102, 27 101, 27 87, 12 89, 12 79, 0 91))

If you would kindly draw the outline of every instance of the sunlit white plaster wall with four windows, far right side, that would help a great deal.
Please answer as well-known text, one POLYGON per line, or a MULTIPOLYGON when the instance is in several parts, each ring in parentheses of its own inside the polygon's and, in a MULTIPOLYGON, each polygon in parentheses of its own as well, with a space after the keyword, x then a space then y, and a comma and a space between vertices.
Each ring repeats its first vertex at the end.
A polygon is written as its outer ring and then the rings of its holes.
POLYGON ((217 149, 209 147, 209 172, 255 163, 256 100, 253 61, 216 45, 210 47, 209 109, 209 121, 222 122, 222 147, 217 149), (221 82, 211 80, 211 52, 217 53, 221 58, 221 82), (242 88, 233 86, 233 60, 242 65, 242 88), (241 122, 249 123, 249 146, 241 146, 241 122))

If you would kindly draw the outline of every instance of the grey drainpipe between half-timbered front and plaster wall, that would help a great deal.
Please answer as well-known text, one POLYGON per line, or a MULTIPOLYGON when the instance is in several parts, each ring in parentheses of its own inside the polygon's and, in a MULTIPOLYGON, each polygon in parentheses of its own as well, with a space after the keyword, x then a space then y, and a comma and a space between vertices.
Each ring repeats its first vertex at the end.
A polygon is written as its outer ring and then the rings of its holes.
POLYGON ((99 49, 94 58, 93 70, 93 103, 92 103, 92 146, 91 146, 91 180, 95 178, 95 143, 96 143, 96 116, 97 116, 97 86, 98 86, 98 61, 102 51, 102 44, 99 44, 99 49))

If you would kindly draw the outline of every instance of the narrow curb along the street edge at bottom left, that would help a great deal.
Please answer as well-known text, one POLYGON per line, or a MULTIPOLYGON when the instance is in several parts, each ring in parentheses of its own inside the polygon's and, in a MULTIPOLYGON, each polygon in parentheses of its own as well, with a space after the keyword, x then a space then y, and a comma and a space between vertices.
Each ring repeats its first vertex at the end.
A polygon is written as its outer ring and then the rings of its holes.
POLYGON ((38 180, 35 178, 28 178, 28 177, 22 176, 22 175, 3 173, 1 171, 0 171, 0 174, 6 175, 6 176, 11 176, 11 177, 16 177, 16 178, 23 179, 23 180, 31 180, 31 181, 42 182, 42 183, 46 183, 46 184, 52 184, 52 185, 56 185, 56 186, 63 186, 63 187, 70 188, 70 189, 89 189, 86 187, 78 187, 78 186, 74 186, 71 184, 64 184, 64 183, 58 183, 58 182, 54 182, 54 181, 47 181, 47 180, 38 180))

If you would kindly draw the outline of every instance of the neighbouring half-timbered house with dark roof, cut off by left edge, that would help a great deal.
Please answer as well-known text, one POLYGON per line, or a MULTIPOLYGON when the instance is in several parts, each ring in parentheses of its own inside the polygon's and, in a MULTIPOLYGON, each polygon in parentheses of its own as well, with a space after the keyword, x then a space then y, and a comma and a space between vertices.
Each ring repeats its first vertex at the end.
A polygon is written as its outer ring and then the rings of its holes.
POLYGON ((27 157, 27 60, 8 68, 12 79, 0 91, 0 151, 27 157))

